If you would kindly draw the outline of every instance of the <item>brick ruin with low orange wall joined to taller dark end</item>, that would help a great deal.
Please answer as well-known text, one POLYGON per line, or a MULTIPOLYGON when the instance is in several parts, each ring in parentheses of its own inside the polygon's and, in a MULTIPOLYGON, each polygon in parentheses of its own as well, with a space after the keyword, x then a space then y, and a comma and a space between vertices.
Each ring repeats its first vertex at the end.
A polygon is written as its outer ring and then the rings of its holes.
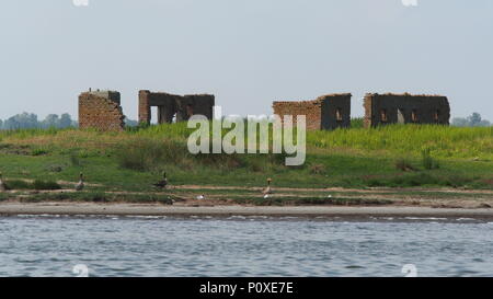
POLYGON ((306 115, 307 129, 335 129, 351 126, 351 93, 326 94, 314 101, 274 102, 274 114, 284 118, 293 115, 306 115))

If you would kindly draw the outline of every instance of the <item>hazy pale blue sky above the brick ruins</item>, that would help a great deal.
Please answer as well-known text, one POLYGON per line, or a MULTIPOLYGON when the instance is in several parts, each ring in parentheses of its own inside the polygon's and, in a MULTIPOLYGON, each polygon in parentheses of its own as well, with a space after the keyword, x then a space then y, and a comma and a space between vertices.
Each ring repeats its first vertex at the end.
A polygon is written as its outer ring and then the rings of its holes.
POLYGON ((493 120, 493 1, 1 0, 0 118, 68 112, 81 91, 214 93, 227 114, 274 100, 447 95, 493 120))

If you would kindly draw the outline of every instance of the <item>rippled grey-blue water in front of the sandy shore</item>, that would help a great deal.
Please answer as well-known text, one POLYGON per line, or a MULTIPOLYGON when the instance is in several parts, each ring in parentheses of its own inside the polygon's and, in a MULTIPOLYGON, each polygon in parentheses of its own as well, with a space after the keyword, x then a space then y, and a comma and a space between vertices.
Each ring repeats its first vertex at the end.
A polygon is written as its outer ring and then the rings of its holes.
POLYGON ((493 276, 492 232, 468 218, 7 217, 0 276, 493 276))

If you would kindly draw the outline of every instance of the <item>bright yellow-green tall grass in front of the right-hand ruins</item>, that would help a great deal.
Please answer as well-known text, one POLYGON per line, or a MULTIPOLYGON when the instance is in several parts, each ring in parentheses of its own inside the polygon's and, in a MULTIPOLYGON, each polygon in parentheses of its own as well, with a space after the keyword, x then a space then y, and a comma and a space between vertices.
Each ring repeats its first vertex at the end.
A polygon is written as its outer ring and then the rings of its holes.
POLYGON ((439 125, 389 125, 378 128, 311 131, 310 146, 323 149, 345 148, 364 152, 387 151, 419 157, 429 149, 435 157, 493 158, 493 127, 459 128, 439 125))

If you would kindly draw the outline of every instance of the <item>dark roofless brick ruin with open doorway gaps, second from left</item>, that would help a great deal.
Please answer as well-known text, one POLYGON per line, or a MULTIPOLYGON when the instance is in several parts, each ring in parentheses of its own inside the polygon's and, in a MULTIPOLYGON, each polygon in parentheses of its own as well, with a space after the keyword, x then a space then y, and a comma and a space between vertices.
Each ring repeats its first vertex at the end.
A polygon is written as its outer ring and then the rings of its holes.
POLYGON ((192 115, 204 115, 213 119, 215 96, 211 94, 176 95, 164 92, 139 91, 139 123, 150 124, 151 107, 158 107, 158 123, 187 120, 192 115))

